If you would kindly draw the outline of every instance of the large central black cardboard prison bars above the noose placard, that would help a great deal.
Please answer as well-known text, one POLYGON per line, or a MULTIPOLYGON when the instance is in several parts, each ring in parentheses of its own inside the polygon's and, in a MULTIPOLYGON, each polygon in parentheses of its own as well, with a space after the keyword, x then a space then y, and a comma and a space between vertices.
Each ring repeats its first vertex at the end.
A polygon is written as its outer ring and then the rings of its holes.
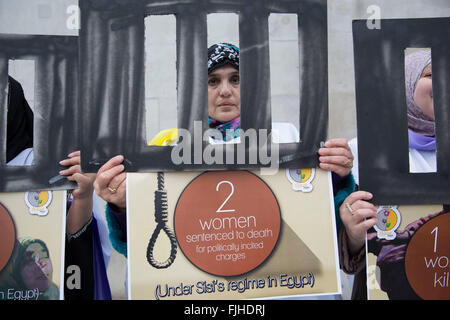
MULTIPOLYGON (((80 1, 81 97, 83 110, 82 166, 95 172, 111 157, 123 154, 127 171, 252 169, 249 162, 258 146, 246 144, 246 162, 232 164, 192 161, 174 164, 173 146, 149 147, 144 117, 144 18, 175 14, 177 21, 178 128, 195 137, 208 129, 207 25, 208 13, 239 14, 241 125, 271 129, 268 16, 298 15, 300 90, 299 143, 280 144, 280 167, 315 167, 317 150, 328 125, 327 3, 324 0, 278 1, 80 1), (95 49, 94 49, 95 48, 95 49), (197 132, 198 135, 198 132, 197 132)), ((260 143, 260 142, 259 142, 260 143)), ((201 154, 207 147, 202 142, 201 154)), ((259 144, 262 145, 262 144, 259 144)), ((209 146, 211 148, 211 146, 209 146)), ((222 148, 222 146, 217 146, 222 148)), ((224 150, 224 161, 226 152, 224 150)), ((256 152, 257 153, 257 152, 256 152)), ((270 154, 270 151, 268 152, 270 154)))

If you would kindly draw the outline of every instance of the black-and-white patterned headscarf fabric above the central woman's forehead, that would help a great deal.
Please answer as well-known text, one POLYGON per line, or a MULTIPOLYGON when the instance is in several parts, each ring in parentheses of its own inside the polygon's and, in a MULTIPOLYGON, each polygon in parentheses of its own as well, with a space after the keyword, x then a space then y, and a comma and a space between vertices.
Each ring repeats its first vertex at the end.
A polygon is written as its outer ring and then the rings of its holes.
POLYGON ((230 43, 217 43, 208 48, 208 74, 226 64, 239 70, 239 48, 230 43))

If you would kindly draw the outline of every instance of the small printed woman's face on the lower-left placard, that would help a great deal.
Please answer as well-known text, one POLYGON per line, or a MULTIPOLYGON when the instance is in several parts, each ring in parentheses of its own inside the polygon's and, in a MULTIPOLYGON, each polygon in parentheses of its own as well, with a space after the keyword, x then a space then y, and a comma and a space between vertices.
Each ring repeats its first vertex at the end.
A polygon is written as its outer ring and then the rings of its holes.
POLYGON ((47 290, 53 273, 48 254, 40 244, 33 243, 27 248, 26 255, 21 265, 22 279, 25 285, 28 289, 47 290))

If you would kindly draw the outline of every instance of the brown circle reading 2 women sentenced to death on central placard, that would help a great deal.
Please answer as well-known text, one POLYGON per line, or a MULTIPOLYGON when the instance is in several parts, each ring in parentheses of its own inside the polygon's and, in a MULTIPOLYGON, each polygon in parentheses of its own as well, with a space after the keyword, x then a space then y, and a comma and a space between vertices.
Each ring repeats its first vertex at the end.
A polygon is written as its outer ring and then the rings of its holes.
POLYGON ((189 261, 219 276, 241 275, 261 265, 275 248, 281 226, 273 192, 248 171, 200 174, 180 195, 174 220, 189 261))

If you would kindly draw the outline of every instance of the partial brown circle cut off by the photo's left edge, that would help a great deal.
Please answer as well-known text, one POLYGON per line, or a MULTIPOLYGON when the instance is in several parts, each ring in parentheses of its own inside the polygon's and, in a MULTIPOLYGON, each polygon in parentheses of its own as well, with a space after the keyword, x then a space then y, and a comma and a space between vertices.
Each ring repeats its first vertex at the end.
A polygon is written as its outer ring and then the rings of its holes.
POLYGON ((0 271, 6 266, 14 249, 16 230, 8 210, 0 204, 0 271))

